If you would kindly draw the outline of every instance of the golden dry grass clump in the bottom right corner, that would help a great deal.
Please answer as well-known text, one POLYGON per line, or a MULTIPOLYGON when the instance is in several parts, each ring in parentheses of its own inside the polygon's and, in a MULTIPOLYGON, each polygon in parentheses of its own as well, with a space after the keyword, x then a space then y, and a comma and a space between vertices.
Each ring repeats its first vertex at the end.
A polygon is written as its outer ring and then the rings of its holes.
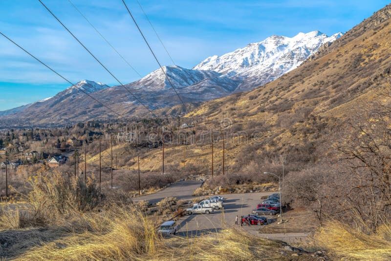
POLYGON ((342 260, 391 260, 391 225, 366 234, 341 222, 328 222, 313 238, 313 245, 342 260))

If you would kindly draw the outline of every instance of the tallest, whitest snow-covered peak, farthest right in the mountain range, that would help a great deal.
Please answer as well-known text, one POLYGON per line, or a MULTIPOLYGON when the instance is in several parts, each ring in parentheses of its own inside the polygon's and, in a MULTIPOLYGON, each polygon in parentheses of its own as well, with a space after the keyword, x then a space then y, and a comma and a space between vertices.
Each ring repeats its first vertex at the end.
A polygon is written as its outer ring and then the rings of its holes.
POLYGON ((259 43, 221 56, 206 58, 193 69, 213 70, 243 82, 239 90, 261 86, 301 65, 325 43, 332 43, 342 33, 330 37, 319 31, 299 33, 294 37, 273 35, 259 43))

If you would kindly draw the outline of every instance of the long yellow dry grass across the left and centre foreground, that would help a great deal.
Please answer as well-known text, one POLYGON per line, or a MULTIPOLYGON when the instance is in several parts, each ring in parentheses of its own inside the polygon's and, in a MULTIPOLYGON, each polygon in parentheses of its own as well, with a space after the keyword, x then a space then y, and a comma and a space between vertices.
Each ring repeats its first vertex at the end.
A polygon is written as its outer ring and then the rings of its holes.
MULTIPOLYGON (((79 214, 61 227, 2 231, 3 258, 14 260, 292 260, 281 244, 235 229, 195 238, 161 238, 130 209, 79 214)), ((303 259, 303 257, 295 257, 303 259)))

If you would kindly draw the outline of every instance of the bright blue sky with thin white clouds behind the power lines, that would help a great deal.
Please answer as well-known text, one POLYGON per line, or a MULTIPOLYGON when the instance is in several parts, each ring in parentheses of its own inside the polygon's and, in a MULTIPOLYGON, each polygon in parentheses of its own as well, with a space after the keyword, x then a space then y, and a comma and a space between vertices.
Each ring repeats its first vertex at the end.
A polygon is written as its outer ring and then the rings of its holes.
MULTIPOLYGON (((158 68, 121 0, 71 0, 142 75, 158 68)), ((346 32, 386 0, 139 0, 177 65, 191 68, 212 55, 271 35, 346 32)), ((138 75, 104 42, 68 0, 43 0, 123 83, 138 75)), ((126 0, 164 65, 172 64, 136 0, 126 0)), ((62 73, 117 85, 38 0, 2 1, 0 30, 62 73)), ((0 110, 55 95, 69 84, 0 38, 0 110)))

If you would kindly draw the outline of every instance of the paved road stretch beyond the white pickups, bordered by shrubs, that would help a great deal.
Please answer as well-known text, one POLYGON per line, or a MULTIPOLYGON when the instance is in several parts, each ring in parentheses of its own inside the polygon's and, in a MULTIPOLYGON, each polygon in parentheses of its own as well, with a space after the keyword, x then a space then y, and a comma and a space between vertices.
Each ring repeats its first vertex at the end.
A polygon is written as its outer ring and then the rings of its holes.
POLYGON ((193 196, 193 192, 199 188, 201 184, 202 181, 179 181, 159 192, 145 196, 138 196, 134 198, 134 200, 149 200, 151 203, 157 203, 168 196, 174 196, 178 200, 191 199, 195 197, 193 196))

